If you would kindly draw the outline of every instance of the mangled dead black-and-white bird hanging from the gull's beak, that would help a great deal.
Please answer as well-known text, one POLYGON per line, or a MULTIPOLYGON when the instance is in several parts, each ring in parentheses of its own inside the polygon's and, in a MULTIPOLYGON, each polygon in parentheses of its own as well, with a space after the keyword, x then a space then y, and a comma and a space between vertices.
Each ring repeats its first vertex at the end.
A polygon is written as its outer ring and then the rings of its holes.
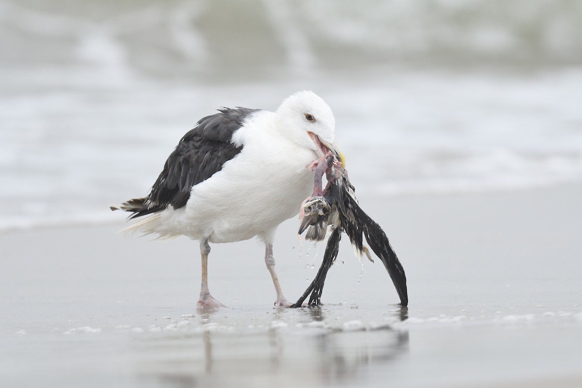
POLYGON ((342 163, 331 152, 311 164, 315 172, 313 195, 308 197, 300 209, 299 234, 307 229, 306 239, 321 241, 325 238, 327 227, 332 230, 324 259, 315 279, 303 295, 291 307, 301 307, 311 293, 308 305, 320 305, 325 277, 335 259, 338 257, 339 241, 342 232, 347 234, 357 254, 365 254, 372 261, 370 252, 363 244, 363 236, 372 251, 381 259, 388 270, 388 275, 400 297, 400 305, 408 305, 406 275, 404 268, 392 249, 384 230, 370 218, 358 205, 354 187, 347 177, 342 163), (322 177, 326 173, 328 184, 322 190, 322 177))

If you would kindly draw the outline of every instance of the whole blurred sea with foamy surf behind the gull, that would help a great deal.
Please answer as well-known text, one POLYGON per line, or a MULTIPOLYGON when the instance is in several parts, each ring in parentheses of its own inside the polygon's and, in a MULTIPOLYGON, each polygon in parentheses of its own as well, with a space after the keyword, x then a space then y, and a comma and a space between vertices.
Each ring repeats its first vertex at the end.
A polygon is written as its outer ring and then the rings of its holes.
POLYGON ((108 219, 219 106, 311 89, 392 195, 582 176, 582 2, 0 0, 0 227, 108 219))

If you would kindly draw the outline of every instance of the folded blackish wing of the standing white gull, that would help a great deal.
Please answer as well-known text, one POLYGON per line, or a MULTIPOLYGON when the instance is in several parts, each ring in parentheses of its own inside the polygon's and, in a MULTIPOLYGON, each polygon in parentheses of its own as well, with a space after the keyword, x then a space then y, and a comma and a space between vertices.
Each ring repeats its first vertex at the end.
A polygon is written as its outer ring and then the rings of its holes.
POLYGON ((131 218, 163 210, 169 205, 175 209, 186 205, 193 186, 220 171, 225 162, 242 151, 242 145, 236 147, 231 142, 232 136, 256 111, 223 108, 220 113, 199 120, 168 156, 143 207, 134 211, 131 218))

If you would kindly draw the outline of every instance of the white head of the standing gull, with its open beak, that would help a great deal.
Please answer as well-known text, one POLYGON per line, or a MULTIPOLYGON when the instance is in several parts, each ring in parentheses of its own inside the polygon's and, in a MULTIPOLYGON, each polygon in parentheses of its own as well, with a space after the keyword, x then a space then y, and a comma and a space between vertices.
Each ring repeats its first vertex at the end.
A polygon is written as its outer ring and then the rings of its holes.
POLYGON ((293 141, 313 149, 318 158, 331 151, 346 167, 346 158, 335 138, 335 118, 321 97, 312 91, 297 92, 286 98, 276 113, 293 141))

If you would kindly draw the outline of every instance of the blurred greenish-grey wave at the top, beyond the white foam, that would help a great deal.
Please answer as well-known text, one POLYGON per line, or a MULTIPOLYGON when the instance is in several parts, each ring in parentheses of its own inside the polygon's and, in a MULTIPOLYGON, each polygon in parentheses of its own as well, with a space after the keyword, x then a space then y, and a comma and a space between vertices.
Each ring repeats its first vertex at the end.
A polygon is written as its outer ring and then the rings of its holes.
POLYGON ((19 0, 0 2, 0 47, 4 67, 93 64, 169 77, 580 65, 581 16, 572 0, 19 0))

